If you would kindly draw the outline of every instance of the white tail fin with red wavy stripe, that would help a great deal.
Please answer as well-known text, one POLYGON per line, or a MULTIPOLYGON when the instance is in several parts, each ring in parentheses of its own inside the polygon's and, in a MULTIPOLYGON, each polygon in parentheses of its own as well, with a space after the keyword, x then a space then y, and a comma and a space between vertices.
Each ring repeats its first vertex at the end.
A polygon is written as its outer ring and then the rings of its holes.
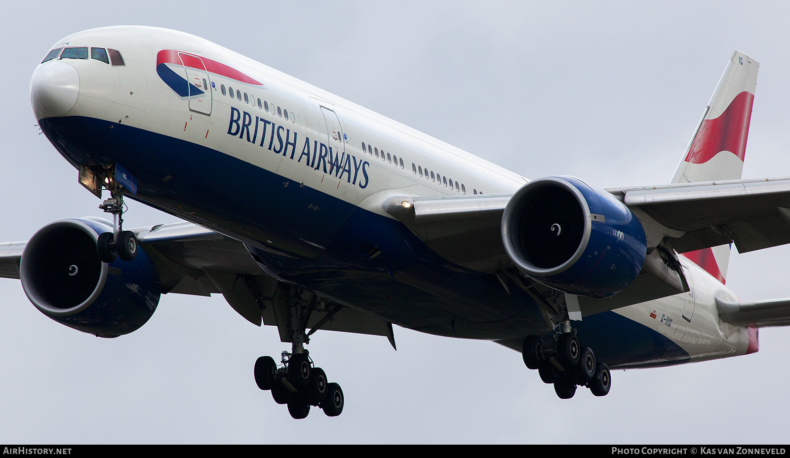
MULTIPOLYGON (((732 54, 670 183, 741 178, 759 66, 743 52, 732 54)), ((684 255, 724 283, 729 245, 684 255)))

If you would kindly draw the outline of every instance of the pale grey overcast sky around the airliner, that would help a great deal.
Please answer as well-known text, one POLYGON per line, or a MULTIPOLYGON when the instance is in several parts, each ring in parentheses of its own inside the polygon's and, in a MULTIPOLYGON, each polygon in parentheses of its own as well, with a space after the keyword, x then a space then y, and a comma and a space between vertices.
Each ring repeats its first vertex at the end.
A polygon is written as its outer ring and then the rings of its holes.
MULTIPOLYGON (((13 2, 0 17, 0 240, 101 216, 38 134, 29 81, 52 44, 105 25, 175 28, 529 178, 664 184, 732 51, 761 63, 744 178, 790 175, 790 20, 744 2, 13 2)), ((129 203, 126 227, 176 221, 129 203)), ((790 297, 790 249, 733 255, 743 300, 790 297)), ((0 443, 771 443, 788 440, 790 329, 757 354, 615 371, 604 398, 555 396, 521 354, 396 327, 319 331, 311 356, 344 412, 301 421, 254 383, 287 344, 224 298, 165 295, 99 339, 0 279, 0 443)))

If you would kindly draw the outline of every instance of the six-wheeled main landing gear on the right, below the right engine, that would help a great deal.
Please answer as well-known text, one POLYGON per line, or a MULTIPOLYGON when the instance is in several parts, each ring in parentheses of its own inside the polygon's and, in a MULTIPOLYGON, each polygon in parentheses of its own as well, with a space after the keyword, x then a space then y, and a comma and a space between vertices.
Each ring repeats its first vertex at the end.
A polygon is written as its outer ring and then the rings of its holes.
POLYGON ((537 369, 540 380, 554 384, 560 399, 574 397, 577 386, 585 386, 595 396, 606 396, 611 388, 608 365, 596 362, 589 346, 581 346, 570 324, 560 326, 564 332, 552 333, 553 339, 544 342, 537 335, 524 339, 521 355, 529 369, 537 369))

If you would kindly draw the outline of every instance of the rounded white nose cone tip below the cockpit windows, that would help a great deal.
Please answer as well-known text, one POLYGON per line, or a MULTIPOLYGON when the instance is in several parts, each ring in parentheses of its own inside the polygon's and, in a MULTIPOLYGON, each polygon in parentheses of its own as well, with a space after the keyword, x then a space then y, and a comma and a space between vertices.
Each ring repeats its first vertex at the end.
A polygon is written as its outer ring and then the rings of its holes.
POLYGON ((30 101, 36 119, 65 115, 77 103, 80 75, 59 60, 39 66, 30 80, 30 101))

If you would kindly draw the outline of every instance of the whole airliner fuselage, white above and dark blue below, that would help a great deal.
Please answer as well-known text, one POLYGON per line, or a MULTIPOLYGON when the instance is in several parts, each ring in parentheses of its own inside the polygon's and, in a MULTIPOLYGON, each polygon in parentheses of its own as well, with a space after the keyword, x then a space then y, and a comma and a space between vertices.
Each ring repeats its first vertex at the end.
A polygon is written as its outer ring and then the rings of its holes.
MULTIPOLYGON (((532 297, 443 259, 382 208, 395 195, 513 193, 524 177, 196 36, 99 28, 58 48, 36 69, 32 103, 75 167, 118 163, 137 178, 133 199, 241 240, 267 273, 382 320, 467 339, 547 332, 532 297)), ((756 350, 756 335, 718 318, 715 298, 735 295, 681 262, 689 293, 574 323, 600 361, 756 350)))

